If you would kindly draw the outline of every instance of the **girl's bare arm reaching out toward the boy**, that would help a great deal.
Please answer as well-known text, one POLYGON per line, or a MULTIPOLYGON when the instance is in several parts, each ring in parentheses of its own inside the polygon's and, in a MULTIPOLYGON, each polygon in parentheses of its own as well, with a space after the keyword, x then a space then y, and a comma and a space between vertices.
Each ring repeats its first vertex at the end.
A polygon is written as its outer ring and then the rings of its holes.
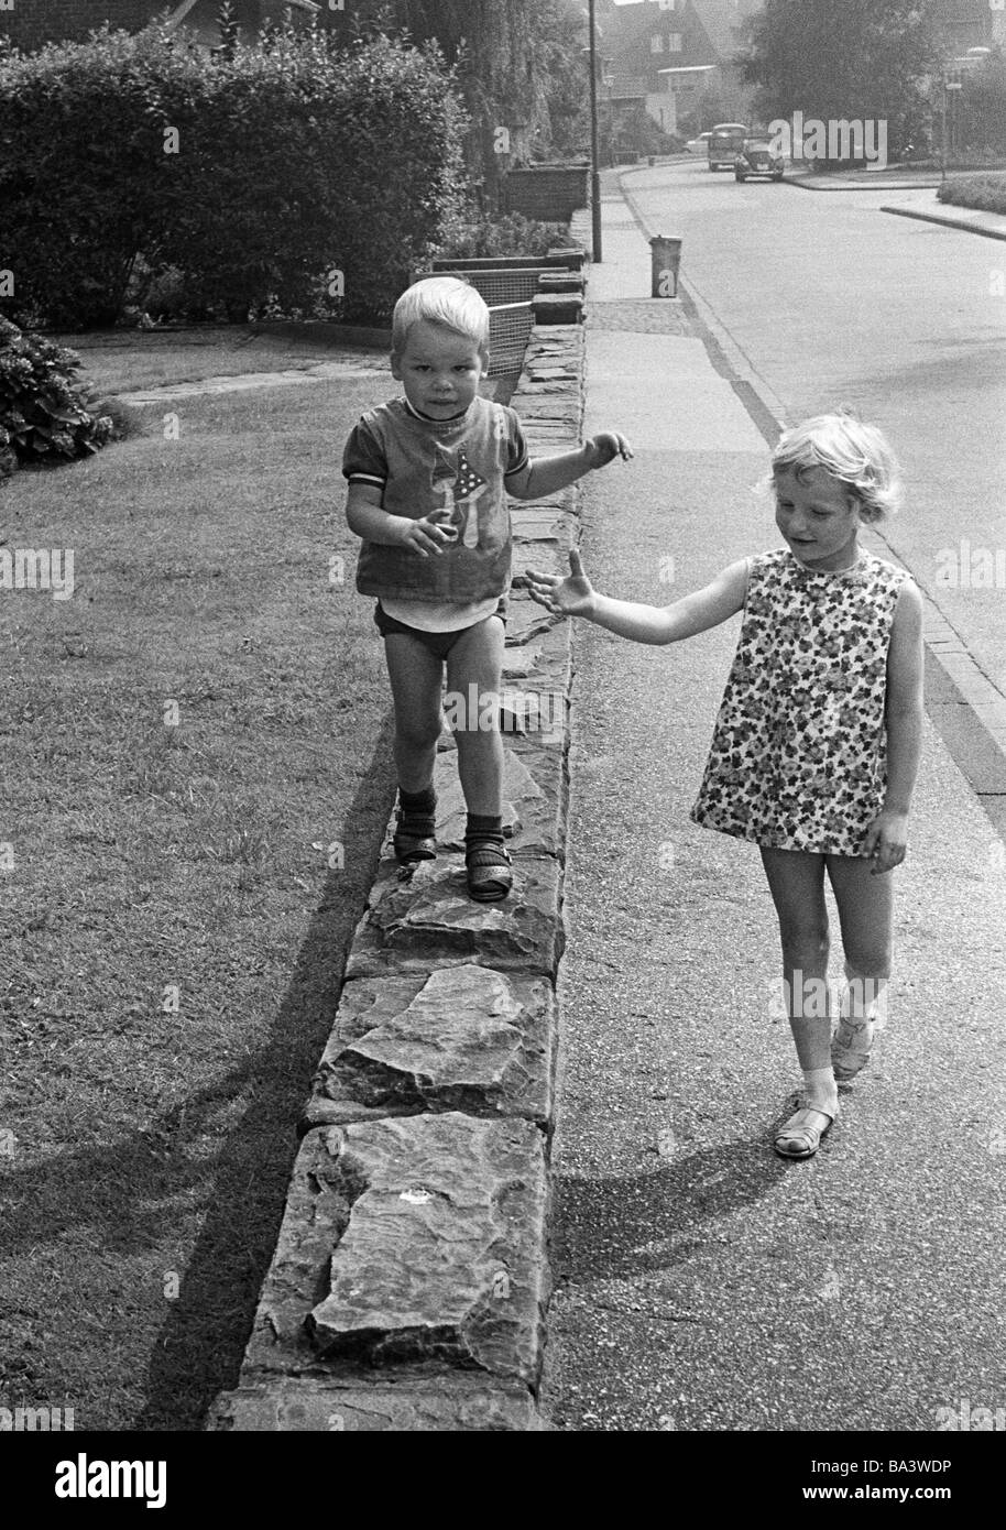
POLYGON ((731 563, 705 589, 683 595, 671 606, 644 606, 634 600, 599 595, 584 574, 579 552, 570 552, 569 566, 566 578, 524 569, 531 598, 558 617, 584 617, 633 643, 680 643, 706 632, 737 615, 748 594, 748 558, 731 563))

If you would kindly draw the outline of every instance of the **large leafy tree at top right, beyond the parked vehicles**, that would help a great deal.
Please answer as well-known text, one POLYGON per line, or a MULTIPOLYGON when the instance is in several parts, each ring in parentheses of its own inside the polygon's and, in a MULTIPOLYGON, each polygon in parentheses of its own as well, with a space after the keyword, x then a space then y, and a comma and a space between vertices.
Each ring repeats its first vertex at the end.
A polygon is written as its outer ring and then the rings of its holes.
POLYGON ((933 0, 766 0, 742 73, 763 121, 887 121, 897 151, 917 130, 920 83, 937 69, 933 0))

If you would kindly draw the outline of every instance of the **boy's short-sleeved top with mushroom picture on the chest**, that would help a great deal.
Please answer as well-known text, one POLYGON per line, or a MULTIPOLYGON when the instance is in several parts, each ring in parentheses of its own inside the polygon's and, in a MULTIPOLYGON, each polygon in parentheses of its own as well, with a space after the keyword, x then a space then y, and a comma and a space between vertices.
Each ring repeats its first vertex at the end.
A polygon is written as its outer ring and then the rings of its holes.
POLYGON ((457 419, 427 419, 408 399, 368 410, 350 433, 342 473, 375 483, 391 516, 437 514, 457 540, 420 558, 407 548, 364 542, 356 569, 362 595, 472 604, 501 595, 511 575, 505 479, 527 465, 512 409, 477 396, 457 419))

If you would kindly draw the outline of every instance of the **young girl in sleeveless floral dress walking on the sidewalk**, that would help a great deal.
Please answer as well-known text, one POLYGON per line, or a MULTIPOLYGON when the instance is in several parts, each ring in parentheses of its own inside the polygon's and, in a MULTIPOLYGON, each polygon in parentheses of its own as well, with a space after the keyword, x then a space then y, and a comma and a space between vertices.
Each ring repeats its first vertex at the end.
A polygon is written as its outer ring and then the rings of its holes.
POLYGON ((532 597, 636 643, 677 643, 743 610, 696 823, 754 840, 783 942, 801 1109, 775 1137, 810 1158, 838 1118, 836 1080, 865 1066, 884 1017, 891 878, 905 858, 922 733, 922 598, 902 569, 859 548, 861 525, 901 497, 879 430, 821 415, 772 454, 775 523, 787 548, 743 558, 671 606, 596 594, 576 552, 570 575, 529 571, 532 597), (824 877, 841 923, 845 991, 832 1040, 824 877))

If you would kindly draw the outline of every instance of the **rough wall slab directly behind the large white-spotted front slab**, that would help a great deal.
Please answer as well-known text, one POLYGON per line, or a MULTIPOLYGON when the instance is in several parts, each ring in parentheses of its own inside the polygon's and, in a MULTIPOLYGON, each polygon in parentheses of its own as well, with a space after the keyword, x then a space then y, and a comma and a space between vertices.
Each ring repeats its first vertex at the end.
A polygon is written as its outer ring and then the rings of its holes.
POLYGON ((463 1111, 547 1126, 555 999, 488 967, 347 982, 304 1125, 463 1111))

